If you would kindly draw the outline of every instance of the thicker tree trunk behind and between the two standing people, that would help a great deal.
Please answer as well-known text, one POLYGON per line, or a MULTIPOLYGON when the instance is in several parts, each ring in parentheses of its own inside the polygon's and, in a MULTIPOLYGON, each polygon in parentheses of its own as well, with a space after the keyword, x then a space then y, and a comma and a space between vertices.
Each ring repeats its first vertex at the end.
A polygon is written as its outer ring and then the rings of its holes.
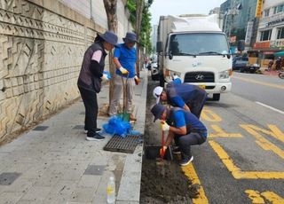
MULTIPOLYGON (((104 0, 105 9, 106 9, 106 17, 107 17, 107 27, 109 30, 114 31, 117 33, 117 0, 104 0)), ((109 60, 109 72, 113 76, 113 79, 109 82, 109 104, 114 94, 114 75, 115 75, 115 65, 114 65, 114 55, 113 52, 110 51, 108 55, 109 60)))

